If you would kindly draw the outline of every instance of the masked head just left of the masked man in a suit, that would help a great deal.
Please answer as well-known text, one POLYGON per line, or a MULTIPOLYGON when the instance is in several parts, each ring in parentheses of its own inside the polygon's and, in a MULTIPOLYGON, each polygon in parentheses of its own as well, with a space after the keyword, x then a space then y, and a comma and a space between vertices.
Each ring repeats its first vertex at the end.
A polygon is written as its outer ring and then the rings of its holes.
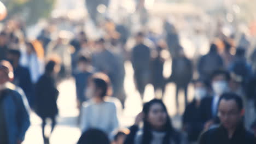
POLYGON ((193 81, 195 88, 195 100, 201 100, 207 95, 207 84, 202 79, 193 81))

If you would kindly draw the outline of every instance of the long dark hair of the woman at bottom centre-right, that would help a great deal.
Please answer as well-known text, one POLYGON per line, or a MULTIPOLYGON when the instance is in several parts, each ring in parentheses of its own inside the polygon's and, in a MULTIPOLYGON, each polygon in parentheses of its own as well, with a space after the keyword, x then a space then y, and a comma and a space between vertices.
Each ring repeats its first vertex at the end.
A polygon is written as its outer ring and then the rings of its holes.
MULTIPOLYGON (((150 100, 148 103, 144 104, 143 106, 143 113, 145 115, 144 117, 144 127, 143 127, 143 137, 142 137, 142 144, 148 144, 150 143, 150 141, 152 141, 153 137, 152 137, 152 125, 147 121, 147 117, 149 115, 149 111, 150 111, 150 107, 152 107, 152 105, 154 104, 160 104, 162 106, 162 108, 164 109, 164 111, 167 113, 167 109, 165 104, 162 102, 162 100, 159 99, 153 99, 150 100)), ((174 136, 174 128, 172 127, 171 124, 171 118, 167 116, 167 121, 165 124, 165 131, 166 131, 166 135, 164 137, 164 140, 162 141, 162 144, 167 144, 170 142, 170 137, 174 136)))

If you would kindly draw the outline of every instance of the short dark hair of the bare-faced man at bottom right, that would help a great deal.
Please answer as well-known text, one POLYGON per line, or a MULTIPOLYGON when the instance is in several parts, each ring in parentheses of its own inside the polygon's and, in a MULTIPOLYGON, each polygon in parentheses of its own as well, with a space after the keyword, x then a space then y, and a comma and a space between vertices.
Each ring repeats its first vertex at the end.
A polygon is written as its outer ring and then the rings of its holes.
POLYGON ((224 100, 234 100, 234 101, 236 101, 236 105, 238 107, 238 110, 240 110, 240 111, 243 110, 243 100, 239 95, 237 95, 235 93, 231 93, 231 92, 224 93, 219 98, 219 104, 220 104, 220 101, 222 101, 223 99, 224 100))

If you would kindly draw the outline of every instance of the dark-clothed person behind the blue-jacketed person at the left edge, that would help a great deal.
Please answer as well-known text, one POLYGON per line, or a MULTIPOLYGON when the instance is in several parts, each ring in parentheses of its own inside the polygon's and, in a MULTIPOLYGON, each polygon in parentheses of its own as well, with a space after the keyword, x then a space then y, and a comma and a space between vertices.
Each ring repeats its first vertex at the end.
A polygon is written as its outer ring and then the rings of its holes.
POLYGON ((19 86, 25 92, 28 103, 30 106, 33 104, 33 85, 31 80, 30 71, 22 67, 20 62, 21 53, 19 50, 8 50, 7 59, 13 65, 14 69, 14 85, 19 86))

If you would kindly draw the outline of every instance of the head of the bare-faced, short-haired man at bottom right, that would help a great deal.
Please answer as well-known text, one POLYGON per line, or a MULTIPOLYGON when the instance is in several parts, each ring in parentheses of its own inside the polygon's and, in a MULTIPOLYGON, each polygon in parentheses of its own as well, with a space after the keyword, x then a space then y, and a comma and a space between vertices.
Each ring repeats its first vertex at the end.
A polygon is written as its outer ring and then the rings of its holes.
POLYGON ((224 93, 219 99, 218 116, 226 129, 234 129, 242 121, 243 101, 235 93, 224 93))

